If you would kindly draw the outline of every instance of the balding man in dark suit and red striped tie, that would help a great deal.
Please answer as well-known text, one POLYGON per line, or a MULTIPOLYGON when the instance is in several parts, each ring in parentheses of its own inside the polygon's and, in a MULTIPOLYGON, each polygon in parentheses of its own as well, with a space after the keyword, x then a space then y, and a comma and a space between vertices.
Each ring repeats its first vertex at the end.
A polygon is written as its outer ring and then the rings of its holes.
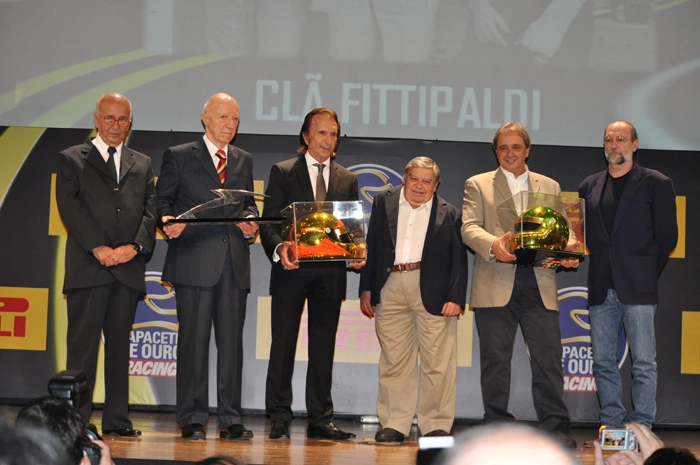
MULTIPOLYGON (((176 292, 177 423, 182 437, 206 439, 209 418, 208 361, 212 323, 217 347, 217 411, 225 439, 251 439, 241 417, 243 323, 250 292, 248 239, 254 222, 231 225, 168 223, 191 208, 214 200, 212 189, 253 190, 253 159, 230 145, 240 110, 230 95, 215 94, 201 114, 204 137, 163 154, 156 203, 169 237, 163 280, 176 292)), ((206 212, 215 218, 258 215, 253 197, 206 212)))

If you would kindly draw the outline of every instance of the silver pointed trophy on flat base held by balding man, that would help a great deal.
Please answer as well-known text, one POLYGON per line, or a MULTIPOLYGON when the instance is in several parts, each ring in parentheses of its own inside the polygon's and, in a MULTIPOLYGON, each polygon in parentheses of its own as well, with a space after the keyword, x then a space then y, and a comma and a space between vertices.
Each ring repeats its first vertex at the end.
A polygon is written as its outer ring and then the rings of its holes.
POLYGON ((259 194, 253 191, 244 189, 212 189, 217 195, 216 199, 204 202, 196 207, 190 208, 185 213, 178 215, 169 223, 186 223, 186 224, 231 224, 231 223, 247 223, 250 221, 256 223, 283 223, 285 218, 280 217, 248 217, 248 218, 231 218, 224 215, 222 207, 227 205, 236 205, 240 203, 241 197, 254 197, 256 199, 264 199, 265 194, 259 194), (217 210, 218 209, 218 210, 217 210))

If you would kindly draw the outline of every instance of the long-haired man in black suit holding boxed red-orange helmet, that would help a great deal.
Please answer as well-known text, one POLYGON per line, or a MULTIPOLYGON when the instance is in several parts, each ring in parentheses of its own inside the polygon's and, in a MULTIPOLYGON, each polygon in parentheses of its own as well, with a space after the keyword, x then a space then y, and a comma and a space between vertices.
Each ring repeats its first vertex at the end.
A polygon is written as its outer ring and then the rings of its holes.
MULTIPOLYGON (((358 199, 357 177, 332 159, 339 134, 335 111, 316 108, 306 115, 299 134, 300 156, 272 167, 263 216, 279 216, 293 202, 358 199)), ((282 237, 284 226, 266 224, 260 231, 263 247, 272 262, 272 346, 265 390, 265 406, 272 420, 270 438, 289 438, 294 354, 304 302, 308 301, 307 437, 351 439, 354 434, 341 431, 333 423, 331 398, 335 336, 340 305, 345 299, 346 266, 342 261, 299 265, 293 243, 282 237)), ((365 247, 364 238, 359 247, 365 247)), ((349 265, 360 269, 364 263, 352 260, 349 265)))

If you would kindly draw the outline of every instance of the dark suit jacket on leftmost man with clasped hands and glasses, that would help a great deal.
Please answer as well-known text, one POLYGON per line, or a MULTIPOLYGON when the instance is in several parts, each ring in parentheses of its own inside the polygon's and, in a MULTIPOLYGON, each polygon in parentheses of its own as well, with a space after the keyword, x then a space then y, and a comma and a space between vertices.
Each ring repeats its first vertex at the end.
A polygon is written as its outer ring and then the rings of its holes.
POLYGON ((156 208, 151 158, 122 146, 119 182, 92 142, 58 154, 56 202, 68 231, 63 292, 120 281, 146 293, 146 255, 100 265, 91 250, 136 242, 153 253, 156 208))

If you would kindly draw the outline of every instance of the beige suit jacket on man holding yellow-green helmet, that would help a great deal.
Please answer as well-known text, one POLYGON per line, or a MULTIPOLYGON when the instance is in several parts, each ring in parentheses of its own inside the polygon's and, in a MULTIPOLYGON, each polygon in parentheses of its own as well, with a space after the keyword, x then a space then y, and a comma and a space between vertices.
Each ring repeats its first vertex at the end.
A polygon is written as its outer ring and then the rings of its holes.
MULTIPOLYGON (((528 184, 531 192, 561 195, 559 183, 532 171, 528 184)), ((469 301, 474 308, 503 307, 513 293, 515 265, 489 256, 493 241, 507 232, 499 224, 496 206, 511 197, 508 181, 500 169, 473 176, 464 185, 462 239, 475 252, 469 301)), ((535 268, 535 276, 544 306, 559 310, 556 272, 535 268)))

